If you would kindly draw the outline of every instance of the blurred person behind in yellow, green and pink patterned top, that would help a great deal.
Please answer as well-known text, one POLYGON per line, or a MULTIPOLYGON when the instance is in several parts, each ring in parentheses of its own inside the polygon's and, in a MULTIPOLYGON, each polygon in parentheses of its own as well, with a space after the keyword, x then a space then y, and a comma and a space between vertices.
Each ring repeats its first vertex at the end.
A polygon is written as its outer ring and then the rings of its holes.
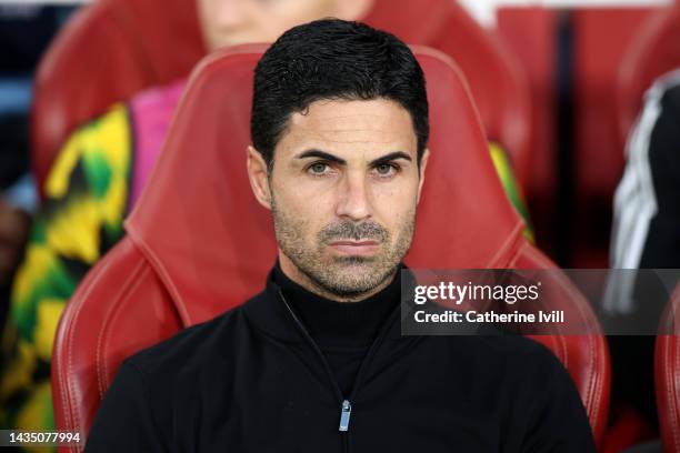
MULTIPOLYGON (((323 17, 359 20, 373 0, 197 0, 209 51, 271 42, 323 17)), ((74 131, 44 187, 2 339, 0 427, 53 429, 50 362, 64 304, 88 270, 123 235, 186 80, 140 92, 74 131)))

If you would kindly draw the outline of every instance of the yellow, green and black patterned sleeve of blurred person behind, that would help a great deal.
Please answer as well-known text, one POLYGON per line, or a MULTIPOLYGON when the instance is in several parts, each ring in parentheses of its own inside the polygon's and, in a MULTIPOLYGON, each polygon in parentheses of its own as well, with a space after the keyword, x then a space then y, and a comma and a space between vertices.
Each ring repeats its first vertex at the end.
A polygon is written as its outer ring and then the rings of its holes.
POLYGON ((123 235, 131 159, 122 103, 80 128, 58 154, 12 288, 1 344, 0 429, 53 429, 57 323, 87 271, 123 235))

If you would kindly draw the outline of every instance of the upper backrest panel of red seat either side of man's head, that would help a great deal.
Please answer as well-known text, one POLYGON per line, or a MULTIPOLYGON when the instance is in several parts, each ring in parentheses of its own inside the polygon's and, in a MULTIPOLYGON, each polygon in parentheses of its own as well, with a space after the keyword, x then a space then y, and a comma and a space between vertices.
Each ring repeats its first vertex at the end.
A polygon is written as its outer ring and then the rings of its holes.
MULTIPOLYGON (((412 49, 427 80, 432 154, 407 263, 504 268, 523 225, 491 163, 467 83, 448 57, 412 49)), ((244 301, 274 262, 271 215, 246 172, 253 69, 264 50, 223 50, 197 67, 126 223, 187 324, 244 301)))

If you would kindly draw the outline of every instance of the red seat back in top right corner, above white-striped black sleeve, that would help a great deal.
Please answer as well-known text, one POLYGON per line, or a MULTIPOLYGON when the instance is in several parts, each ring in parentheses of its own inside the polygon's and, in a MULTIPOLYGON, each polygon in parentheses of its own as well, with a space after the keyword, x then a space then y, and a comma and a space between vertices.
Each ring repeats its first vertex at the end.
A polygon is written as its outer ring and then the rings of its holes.
POLYGON ((617 108, 621 150, 654 79, 680 68, 680 3, 653 13, 641 27, 619 68, 617 108))

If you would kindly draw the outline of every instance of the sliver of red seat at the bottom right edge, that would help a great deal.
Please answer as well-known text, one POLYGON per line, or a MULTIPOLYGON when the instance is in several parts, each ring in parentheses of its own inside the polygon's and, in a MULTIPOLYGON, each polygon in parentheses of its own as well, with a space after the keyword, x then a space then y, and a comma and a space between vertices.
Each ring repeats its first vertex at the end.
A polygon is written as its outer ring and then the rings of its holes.
POLYGON ((661 320, 654 351, 657 411, 664 452, 680 452, 680 285, 661 320))

